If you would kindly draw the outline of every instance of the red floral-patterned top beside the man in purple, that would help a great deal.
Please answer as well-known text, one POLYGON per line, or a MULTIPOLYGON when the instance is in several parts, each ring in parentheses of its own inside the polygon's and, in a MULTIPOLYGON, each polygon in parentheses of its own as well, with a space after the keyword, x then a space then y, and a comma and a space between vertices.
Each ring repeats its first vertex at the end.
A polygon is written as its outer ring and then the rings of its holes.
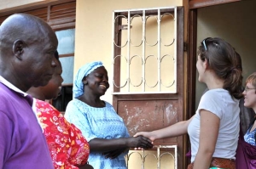
POLYGON ((81 131, 51 104, 37 99, 35 106, 55 169, 79 169, 90 153, 81 131))

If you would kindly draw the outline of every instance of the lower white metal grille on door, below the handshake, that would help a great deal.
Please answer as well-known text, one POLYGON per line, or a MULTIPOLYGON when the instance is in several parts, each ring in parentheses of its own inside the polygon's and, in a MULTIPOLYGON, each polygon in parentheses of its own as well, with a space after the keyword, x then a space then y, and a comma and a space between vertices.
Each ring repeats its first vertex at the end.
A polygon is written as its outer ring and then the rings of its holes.
MULTIPOLYGON (((126 155, 128 169, 131 169, 131 167, 129 166, 129 160, 131 159, 132 155, 140 156, 142 169, 146 169, 145 163, 149 156, 154 156, 154 159, 156 160, 156 167, 155 167, 156 169, 162 169, 162 168, 177 169, 177 145, 157 145, 157 146, 154 146, 154 148, 156 148, 156 151, 157 151, 156 155, 153 153, 146 153, 144 150, 135 150, 129 153, 128 155, 126 155), (165 149, 171 149, 171 150, 161 152, 162 150, 165 150, 165 149), (170 166, 161 166, 160 165, 161 160, 166 155, 168 156, 167 160, 171 164, 170 166)), ((150 167, 150 168, 154 168, 154 167, 150 167)))

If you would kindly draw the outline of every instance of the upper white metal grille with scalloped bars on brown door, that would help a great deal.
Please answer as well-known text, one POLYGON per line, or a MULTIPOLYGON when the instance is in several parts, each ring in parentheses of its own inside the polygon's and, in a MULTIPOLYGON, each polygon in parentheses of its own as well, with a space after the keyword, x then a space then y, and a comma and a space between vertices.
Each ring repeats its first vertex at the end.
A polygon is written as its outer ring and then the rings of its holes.
POLYGON ((177 93, 176 17, 177 7, 113 11, 113 94, 177 93))

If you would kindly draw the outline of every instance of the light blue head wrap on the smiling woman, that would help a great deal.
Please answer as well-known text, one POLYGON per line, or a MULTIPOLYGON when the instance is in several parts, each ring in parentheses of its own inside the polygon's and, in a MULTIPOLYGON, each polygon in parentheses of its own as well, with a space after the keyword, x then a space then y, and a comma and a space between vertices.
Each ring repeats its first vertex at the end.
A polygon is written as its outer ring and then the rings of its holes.
POLYGON ((96 62, 90 62, 86 65, 83 65, 77 75, 74 78, 73 81, 73 95, 74 98, 78 98, 79 96, 84 94, 84 84, 82 82, 84 76, 87 76, 92 72, 93 70, 96 70, 98 67, 102 67, 103 64, 101 61, 96 61, 96 62))

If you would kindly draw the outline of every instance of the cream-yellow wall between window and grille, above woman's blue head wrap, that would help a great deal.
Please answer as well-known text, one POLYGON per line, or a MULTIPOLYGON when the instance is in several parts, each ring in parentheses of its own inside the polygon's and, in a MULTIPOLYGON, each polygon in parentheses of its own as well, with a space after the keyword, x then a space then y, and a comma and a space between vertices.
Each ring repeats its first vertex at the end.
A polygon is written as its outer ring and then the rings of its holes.
MULTIPOLYGON (((112 85, 113 10, 182 6, 182 3, 182 0, 77 0, 74 73, 87 62, 101 60, 108 70, 108 78, 112 85)), ((110 103, 111 88, 102 96, 102 99, 110 103)))

